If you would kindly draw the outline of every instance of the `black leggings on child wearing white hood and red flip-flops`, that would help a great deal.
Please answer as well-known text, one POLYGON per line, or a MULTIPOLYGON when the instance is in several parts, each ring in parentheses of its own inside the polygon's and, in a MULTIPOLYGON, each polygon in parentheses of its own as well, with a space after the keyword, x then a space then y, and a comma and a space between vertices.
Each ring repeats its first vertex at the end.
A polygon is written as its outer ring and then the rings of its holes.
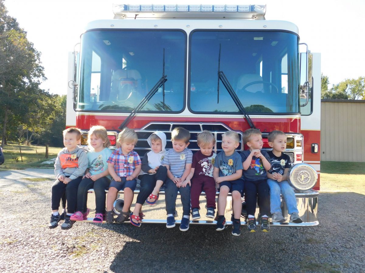
POLYGON ((155 174, 140 175, 138 178, 141 180, 141 188, 139 189, 136 203, 143 205, 156 186, 156 181, 162 180, 165 182, 166 177, 167 168, 162 165, 158 167, 155 174))

